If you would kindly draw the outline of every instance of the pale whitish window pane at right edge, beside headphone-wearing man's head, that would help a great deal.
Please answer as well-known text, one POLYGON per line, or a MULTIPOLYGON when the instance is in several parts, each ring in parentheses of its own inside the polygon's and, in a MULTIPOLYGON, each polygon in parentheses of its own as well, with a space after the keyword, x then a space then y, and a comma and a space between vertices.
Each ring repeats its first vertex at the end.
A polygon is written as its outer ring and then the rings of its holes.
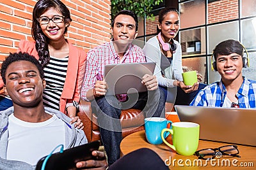
POLYGON ((256 49, 256 18, 242 20, 242 42, 246 49, 256 49), (253 22, 252 22, 253 21, 253 22))

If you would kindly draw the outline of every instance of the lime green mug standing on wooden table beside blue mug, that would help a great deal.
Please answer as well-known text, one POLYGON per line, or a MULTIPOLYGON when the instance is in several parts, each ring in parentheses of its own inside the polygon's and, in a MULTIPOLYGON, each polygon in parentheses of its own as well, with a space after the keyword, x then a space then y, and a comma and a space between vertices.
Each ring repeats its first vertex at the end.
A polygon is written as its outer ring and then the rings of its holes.
POLYGON ((180 155, 193 155, 198 147, 200 125, 192 122, 175 122, 172 129, 163 129, 161 138, 163 142, 180 155), (164 132, 172 134, 173 145, 164 139, 164 132))

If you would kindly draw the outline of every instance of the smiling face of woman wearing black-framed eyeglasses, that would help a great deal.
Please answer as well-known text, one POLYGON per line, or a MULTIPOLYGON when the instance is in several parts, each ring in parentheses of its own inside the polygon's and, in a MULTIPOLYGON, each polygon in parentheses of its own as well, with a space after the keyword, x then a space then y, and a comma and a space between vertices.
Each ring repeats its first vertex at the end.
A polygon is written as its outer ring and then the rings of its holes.
MULTIPOLYGON (((53 18, 56 16, 63 16, 60 11, 55 8, 49 8, 49 10, 42 13, 40 17, 53 18)), ((64 39, 65 28, 68 27, 68 22, 54 23, 52 20, 48 24, 40 24, 42 31, 45 36, 50 39, 50 41, 58 41, 60 39, 64 39)))

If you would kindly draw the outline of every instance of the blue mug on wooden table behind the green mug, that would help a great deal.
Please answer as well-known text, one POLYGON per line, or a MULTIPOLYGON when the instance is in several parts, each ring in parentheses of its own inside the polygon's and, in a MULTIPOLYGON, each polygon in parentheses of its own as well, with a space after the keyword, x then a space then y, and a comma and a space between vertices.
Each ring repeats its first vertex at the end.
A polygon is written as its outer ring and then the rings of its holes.
MULTIPOLYGON (((168 124, 171 125, 172 121, 160 117, 145 118, 144 121, 147 141, 153 145, 159 145, 163 143, 163 139, 161 138, 161 131, 166 128, 168 124)), ((169 134, 170 132, 166 132, 164 134, 164 138, 166 138, 169 134)))

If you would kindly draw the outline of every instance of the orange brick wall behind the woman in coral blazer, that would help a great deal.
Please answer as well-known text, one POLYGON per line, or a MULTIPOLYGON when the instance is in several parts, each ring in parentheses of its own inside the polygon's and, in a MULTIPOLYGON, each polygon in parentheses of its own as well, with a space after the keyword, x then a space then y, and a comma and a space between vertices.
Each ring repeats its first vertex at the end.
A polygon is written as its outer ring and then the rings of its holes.
MULTIPOLYGON (((88 52, 110 38, 110 0, 61 0, 71 13, 67 39, 88 52)), ((16 52, 20 39, 33 40, 31 19, 36 0, 0 0, 0 61, 16 52)))

